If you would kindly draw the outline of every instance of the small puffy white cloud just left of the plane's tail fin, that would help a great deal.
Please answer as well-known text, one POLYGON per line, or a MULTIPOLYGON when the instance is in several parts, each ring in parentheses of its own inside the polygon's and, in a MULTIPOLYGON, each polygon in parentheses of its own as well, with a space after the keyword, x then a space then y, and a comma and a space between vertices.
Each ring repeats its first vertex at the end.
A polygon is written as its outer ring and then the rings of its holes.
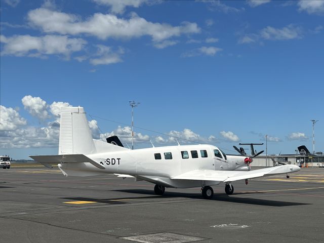
POLYGON ((26 95, 21 99, 24 108, 33 116, 45 120, 49 118, 49 113, 47 111, 48 105, 46 101, 39 97, 32 97, 31 95, 26 95))

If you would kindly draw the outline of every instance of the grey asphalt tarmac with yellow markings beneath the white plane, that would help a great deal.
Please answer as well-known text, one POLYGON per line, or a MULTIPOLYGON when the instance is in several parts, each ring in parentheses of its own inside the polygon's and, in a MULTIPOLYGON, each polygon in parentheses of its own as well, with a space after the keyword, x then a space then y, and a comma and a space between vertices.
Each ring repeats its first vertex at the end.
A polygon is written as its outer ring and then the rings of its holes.
POLYGON ((245 185, 166 188, 113 175, 64 177, 56 169, 0 170, 0 242, 324 242, 324 168, 245 185))

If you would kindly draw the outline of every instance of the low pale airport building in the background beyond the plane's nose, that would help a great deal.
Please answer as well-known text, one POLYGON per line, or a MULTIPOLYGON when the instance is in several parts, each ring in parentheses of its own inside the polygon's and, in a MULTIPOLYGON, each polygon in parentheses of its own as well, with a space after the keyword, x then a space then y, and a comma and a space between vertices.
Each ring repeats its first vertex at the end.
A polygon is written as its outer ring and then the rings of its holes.
POLYGON ((282 154, 282 155, 259 155, 253 158, 253 167, 272 167, 280 163, 297 165, 300 167, 324 167, 324 154, 282 154))

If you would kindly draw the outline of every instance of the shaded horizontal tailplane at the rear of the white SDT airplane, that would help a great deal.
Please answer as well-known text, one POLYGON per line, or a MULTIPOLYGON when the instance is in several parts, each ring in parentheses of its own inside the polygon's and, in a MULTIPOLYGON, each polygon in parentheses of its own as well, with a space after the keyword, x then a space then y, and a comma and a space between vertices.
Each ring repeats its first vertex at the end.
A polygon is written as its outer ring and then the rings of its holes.
POLYGON ((35 161, 44 164, 64 164, 64 163, 90 163, 99 169, 105 169, 95 160, 87 157, 84 154, 60 154, 60 155, 35 155, 29 156, 35 161))

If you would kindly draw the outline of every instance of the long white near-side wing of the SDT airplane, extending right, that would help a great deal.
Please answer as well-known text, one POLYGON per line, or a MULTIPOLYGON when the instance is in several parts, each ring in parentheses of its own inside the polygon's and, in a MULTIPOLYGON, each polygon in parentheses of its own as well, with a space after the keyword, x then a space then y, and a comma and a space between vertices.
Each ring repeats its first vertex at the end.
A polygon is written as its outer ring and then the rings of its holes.
POLYGON ((270 167, 254 171, 196 170, 172 177, 171 179, 231 182, 277 174, 287 174, 297 172, 299 170, 300 168, 295 165, 270 167))

